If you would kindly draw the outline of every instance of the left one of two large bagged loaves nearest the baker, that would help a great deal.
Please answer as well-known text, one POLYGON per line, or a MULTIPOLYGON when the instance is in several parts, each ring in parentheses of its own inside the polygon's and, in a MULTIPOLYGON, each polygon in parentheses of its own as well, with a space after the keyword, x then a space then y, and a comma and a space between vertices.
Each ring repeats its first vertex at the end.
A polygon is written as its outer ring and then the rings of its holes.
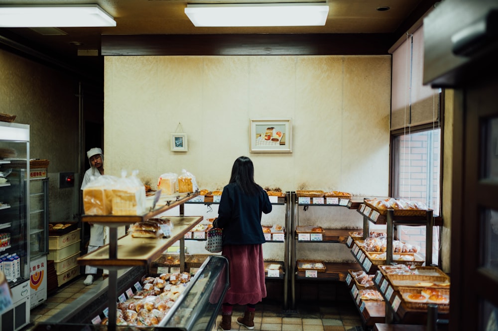
POLYGON ((87 215, 110 215, 113 211, 113 187, 118 178, 110 175, 93 177, 83 189, 83 208, 87 215))

